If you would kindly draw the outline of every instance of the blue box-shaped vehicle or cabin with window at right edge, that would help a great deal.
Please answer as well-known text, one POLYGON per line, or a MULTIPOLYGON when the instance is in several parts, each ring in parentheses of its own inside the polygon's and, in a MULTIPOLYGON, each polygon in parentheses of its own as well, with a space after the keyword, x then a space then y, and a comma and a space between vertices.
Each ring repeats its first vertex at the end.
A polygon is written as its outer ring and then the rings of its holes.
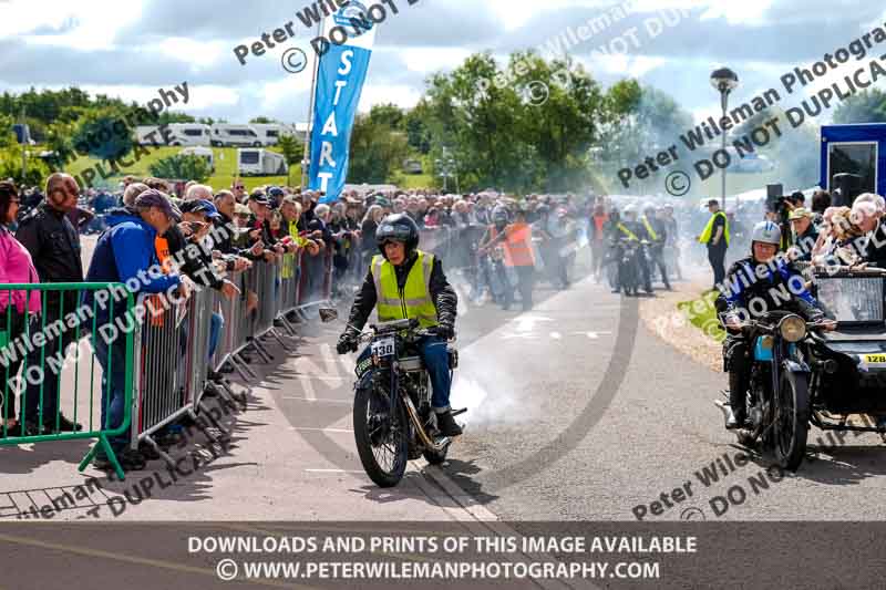
POLYGON ((847 205, 862 193, 886 195, 886 123, 823 125, 820 186, 841 188, 847 205))

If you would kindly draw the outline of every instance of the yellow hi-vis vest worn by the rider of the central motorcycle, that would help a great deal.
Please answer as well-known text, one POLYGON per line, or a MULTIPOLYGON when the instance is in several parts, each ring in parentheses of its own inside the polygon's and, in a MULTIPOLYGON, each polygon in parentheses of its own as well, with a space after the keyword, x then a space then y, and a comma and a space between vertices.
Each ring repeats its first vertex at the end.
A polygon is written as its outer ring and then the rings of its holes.
POLYGON ((375 311, 380 322, 414 318, 422 328, 437 324, 436 308, 431 299, 431 270, 434 268, 433 255, 415 250, 418 259, 406 277, 406 284, 400 291, 396 284, 394 266, 383 256, 372 257, 372 280, 375 283, 375 311))

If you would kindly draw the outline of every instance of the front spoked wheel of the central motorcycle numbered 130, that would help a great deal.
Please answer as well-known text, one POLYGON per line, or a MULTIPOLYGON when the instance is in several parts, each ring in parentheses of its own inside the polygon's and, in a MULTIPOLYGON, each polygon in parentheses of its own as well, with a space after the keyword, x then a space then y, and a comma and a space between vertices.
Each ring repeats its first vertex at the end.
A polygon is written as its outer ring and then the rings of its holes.
POLYGON ((387 396, 371 387, 357 390, 353 435, 360 463, 380 487, 393 487, 403 478, 409 455, 409 424, 402 402, 388 407, 387 396))

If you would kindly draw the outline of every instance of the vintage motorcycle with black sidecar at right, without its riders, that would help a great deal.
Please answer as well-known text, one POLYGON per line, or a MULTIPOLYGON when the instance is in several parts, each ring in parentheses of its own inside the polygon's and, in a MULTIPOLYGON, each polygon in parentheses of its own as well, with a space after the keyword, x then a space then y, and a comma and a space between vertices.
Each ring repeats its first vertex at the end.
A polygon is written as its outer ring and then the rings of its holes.
MULTIPOLYGON (((884 271, 828 269, 814 277, 813 294, 828 320, 773 311, 744 322, 753 364, 749 422, 738 431, 739 443, 762 443, 792 470, 803 462, 811 425, 886 439, 884 271), (849 421, 859 415, 875 421, 849 421)), ((728 403, 717 404, 725 414, 728 403)))

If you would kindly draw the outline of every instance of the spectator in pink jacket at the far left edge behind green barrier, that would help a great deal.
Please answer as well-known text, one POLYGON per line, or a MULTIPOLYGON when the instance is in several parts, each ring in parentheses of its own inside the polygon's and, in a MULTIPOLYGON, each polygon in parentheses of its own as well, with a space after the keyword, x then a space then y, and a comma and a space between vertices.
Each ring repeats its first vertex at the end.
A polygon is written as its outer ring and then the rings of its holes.
POLYGON ((21 434, 16 421, 16 377, 23 359, 3 348, 24 333, 27 315, 40 311, 40 291, 29 294, 23 289, 2 288, 40 282, 31 255, 7 228, 16 220, 19 203, 16 185, 0 182, 0 438, 21 434))

